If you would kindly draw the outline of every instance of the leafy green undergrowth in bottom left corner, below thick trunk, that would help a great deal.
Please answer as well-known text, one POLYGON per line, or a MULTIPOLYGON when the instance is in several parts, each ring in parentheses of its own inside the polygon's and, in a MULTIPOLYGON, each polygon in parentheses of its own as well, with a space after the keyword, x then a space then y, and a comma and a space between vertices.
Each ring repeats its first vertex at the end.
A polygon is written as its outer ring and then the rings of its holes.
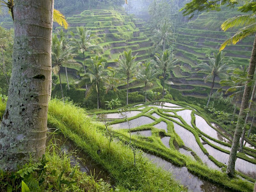
POLYGON ((50 144, 38 163, 28 163, 17 172, 0 171, 0 191, 23 192, 24 183, 25 191, 113 191, 107 182, 81 172, 78 164, 72 166, 72 155, 50 144))

